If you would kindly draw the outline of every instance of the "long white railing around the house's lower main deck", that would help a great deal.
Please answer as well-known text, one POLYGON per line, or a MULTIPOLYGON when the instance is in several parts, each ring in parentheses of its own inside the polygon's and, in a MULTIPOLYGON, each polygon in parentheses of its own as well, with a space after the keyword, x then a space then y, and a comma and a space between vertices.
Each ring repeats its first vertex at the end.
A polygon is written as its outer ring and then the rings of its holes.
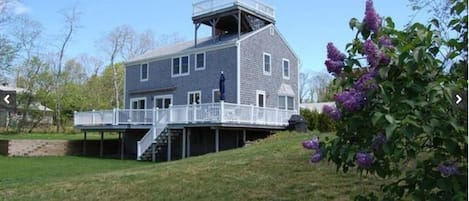
POLYGON ((155 125, 171 123, 242 123, 286 126, 293 110, 233 103, 176 105, 167 109, 113 109, 75 112, 75 126, 155 125))

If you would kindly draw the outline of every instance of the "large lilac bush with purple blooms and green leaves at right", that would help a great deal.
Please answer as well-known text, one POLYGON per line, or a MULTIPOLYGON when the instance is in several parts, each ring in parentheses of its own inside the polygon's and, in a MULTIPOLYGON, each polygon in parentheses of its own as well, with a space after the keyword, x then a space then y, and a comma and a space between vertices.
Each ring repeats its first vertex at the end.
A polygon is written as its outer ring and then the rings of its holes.
POLYGON ((379 199, 467 200, 467 110, 452 107, 453 92, 467 90, 467 1, 449 4, 448 41, 438 20, 396 30, 367 0, 363 20, 350 21, 357 35, 348 55, 327 44, 325 65, 341 91, 336 107, 323 111, 337 121, 337 133, 304 145, 314 147, 311 162, 327 159, 344 172, 391 178, 379 199))

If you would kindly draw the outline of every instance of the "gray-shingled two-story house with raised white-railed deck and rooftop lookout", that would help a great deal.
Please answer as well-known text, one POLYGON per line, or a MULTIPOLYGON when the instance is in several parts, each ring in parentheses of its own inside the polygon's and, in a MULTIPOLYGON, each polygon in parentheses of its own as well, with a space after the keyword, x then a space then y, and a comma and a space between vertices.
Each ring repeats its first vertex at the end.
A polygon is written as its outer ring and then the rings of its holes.
POLYGON ((285 129, 299 110, 299 59, 275 10, 257 0, 204 0, 193 4, 192 21, 194 40, 126 62, 126 110, 76 113, 75 125, 121 126, 123 149, 152 160, 236 148, 285 129), (198 37, 202 25, 211 36, 198 37))

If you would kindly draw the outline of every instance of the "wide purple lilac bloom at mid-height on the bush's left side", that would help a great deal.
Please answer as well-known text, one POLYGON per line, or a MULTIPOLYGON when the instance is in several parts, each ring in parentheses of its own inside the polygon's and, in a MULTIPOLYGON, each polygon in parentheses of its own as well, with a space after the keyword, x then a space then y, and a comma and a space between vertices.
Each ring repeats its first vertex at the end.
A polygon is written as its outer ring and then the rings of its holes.
POLYGON ((365 103, 363 93, 353 88, 336 94, 334 98, 349 112, 360 110, 365 103))

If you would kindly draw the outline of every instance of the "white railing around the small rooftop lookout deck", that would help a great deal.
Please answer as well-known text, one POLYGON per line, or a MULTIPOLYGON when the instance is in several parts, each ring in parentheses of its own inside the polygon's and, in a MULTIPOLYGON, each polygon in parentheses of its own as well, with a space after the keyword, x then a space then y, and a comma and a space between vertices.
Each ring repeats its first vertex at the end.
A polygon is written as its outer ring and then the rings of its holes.
POLYGON ((275 9, 258 0, 204 0, 192 5, 192 16, 202 15, 231 6, 244 6, 275 19, 275 9))

